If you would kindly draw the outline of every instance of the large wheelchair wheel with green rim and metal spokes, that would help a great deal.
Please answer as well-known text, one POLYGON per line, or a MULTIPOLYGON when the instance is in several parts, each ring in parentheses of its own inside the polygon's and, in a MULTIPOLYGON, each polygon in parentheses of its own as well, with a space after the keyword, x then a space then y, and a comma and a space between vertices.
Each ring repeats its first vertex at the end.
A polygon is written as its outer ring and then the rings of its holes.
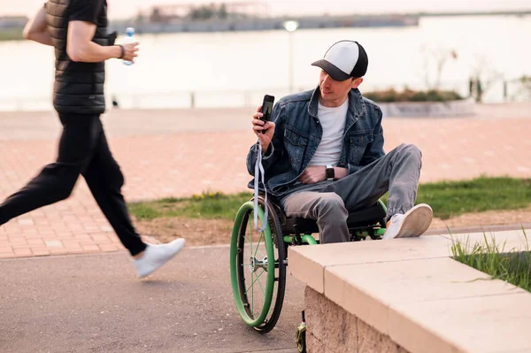
POLYGON ((235 217, 230 244, 230 277, 235 305, 243 322, 262 334, 276 325, 286 288, 286 246, 278 216, 271 204, 258 198, 258 232, 254 224, 254 203, 243 203, 235 217), (273 260, 272 260, 273 259, 273 260))

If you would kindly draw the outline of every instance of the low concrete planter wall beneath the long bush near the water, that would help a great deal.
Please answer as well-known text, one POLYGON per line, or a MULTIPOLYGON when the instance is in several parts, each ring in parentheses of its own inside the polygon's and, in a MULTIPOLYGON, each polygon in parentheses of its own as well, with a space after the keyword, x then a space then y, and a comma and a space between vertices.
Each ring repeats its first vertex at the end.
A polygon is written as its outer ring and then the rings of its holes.
POLYGON ((448 102, 395 102, 378 104, 384 117, 458 117, 473 115, 473 99, 448 102))

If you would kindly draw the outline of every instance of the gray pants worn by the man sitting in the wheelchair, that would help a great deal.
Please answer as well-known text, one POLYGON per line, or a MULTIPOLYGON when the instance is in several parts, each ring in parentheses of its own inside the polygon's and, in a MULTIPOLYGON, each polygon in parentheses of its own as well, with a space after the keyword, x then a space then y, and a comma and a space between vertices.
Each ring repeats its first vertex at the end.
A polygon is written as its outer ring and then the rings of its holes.
POLYGON ((420 150, 402 144, 341 180, 302 184, 281 203, 287 216, 315 219, 321 243, 348 242, 350 211, 372 206, 388 191, 388 219, 414 206, 421 166, 420 150))

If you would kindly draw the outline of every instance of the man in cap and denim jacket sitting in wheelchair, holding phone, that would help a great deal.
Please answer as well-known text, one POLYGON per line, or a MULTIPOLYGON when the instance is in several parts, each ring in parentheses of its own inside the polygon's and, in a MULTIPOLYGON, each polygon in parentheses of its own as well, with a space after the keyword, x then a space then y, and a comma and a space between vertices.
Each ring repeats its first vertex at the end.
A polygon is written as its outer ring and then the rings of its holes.
MULTIPOLYGON (((252 117, 267 192, 287 216, 315 219, 321 243, 348 242, 349 212, 371 207, 388 191, 383 239, 424 234, 433 212, 425 203, 414 206, 422 154, 412 144, 383 151, 381 109, 358 90, 366 50, 358 42, 336 42, 312 65, 322 69, 317 88, 281 98, 270 122, 260 119, 261 107, 252 117)), ((257 148, 247 156, 255 177, 257 148)))

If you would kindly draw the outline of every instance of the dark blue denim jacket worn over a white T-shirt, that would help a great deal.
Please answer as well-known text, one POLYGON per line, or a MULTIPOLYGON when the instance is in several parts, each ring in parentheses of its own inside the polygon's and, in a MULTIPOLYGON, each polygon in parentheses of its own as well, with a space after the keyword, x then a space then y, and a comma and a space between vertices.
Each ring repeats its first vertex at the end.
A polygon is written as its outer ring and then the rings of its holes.
MULTIPOLYGON (((321 141, 323 129, 317 118, 319 87, 285 96, 274 104, 271 119, 275 123, 273 141, 262 158, 267 192, 284 196, 295 188, 296 180, 310 164, 321 141)), ((247 170, 255 176, 258 144, 247 155, 247 170)), ((358 88, 350 89, 349 108, 339 162, 335 166, 355 173, 364 165, 384 156, 381 109, 362 97, 358 88)), ((260 180, 261 181, 261 180, 260 180)), ((260 182, 260 189, 262 188, 260 182)), ((254 179, 249 188, 254 187, 254 179)))

